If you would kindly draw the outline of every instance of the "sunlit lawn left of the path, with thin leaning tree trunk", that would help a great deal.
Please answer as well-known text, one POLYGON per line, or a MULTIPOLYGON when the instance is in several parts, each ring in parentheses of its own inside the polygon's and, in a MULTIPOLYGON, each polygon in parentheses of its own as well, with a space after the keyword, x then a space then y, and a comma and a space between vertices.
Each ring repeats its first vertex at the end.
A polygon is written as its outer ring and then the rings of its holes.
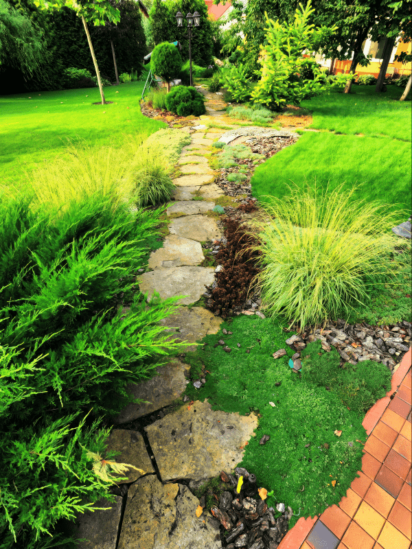
POLYGON ((104 88, 106 101, 113 101, 107 105, 93 105, 100 101, 97 88, 1 96, 0 185, 20 183, 22 172, 54 159, 69 140, 121 147, 128 135, 146 139, 165 128, 163 122, 141 114, 143 86, 131 82, 104 88))

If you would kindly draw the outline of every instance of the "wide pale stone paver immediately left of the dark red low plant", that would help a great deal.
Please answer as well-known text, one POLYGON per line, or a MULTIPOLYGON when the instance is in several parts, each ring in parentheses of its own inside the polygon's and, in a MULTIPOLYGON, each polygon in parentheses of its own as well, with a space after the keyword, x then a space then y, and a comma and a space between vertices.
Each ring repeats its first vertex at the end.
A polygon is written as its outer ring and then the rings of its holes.
POLYGON ((180 305, 190 305, 201 299, 205 285, 214 281, 213 267, 172 267, 145 272, 139 283, 143 294, 148 292, 149 299, 155 290, 161 299, 172 296, 187 296, 179 299, 180 305))

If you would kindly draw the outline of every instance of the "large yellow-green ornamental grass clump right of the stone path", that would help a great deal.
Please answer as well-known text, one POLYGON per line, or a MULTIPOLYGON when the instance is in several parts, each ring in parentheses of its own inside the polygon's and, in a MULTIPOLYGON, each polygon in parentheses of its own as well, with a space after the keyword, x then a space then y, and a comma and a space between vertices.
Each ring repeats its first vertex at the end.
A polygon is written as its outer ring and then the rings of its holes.
POLYGON ((378 276, 391 270, 396 218, 379 202, 352 200, 342 185, 318 194, 290 189, 268 198, 260 226, 260 272, 267 314, 283 314, 301 329, 362 303, 378 276))

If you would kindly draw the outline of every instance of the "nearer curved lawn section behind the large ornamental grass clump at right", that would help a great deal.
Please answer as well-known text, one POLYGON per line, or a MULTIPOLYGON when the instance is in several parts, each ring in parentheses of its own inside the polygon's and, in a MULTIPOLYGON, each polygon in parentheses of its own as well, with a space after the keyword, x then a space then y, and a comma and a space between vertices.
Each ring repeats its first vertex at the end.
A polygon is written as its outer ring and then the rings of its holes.
MULTIPOLYGON (((333 118, 332 118, 333 122, 333 118)), ((295 183, 319 189, 358 186, 354 200, 382 200, 397 209, 411 209, 411 145, 389 138, 305 132, 258 166, 251 180, 253 196, 282 198, 295 183)), ((400 213, 399 221, 405 220, 400 213)))

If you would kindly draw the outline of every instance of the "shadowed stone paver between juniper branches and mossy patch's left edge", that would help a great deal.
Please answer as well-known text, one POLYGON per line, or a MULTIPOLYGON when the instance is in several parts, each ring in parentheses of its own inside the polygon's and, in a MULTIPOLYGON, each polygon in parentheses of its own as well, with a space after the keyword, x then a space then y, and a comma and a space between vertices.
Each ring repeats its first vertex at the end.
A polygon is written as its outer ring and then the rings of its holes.
MULTIPOLYGON (((185 309, 186 307, 182 308, 185 309)), ((169 318, 171 317, 169 316, 168 319, 169 318)), ((174 321, 168 323, 168 325, 179 327, 179 324, 174 321)), ((178 335, 181 336, 181 334, 178 335)), ((173 335, 172 338, 176 339, 176 336, 173 335)), ((155 410, 172 404, 172 402, 178 399, 185 390, 185 372, 189 368, 190 366, 183 364, 177 358, 172 358, 165 366, 157 366, 157 375, 155 375, 155 377, 146 379, 146 381, 139 384, 128 384, 128 394, 146 402, 128 404, 128 406, 117 415, 115 423, 128 423, 128 421, 146 416, 146 414, 150 414, 155 412, 155 410)), ((132 465, 135 464, 133 463, 132 465)), ((139 465, 136 465, 136 467, 139 467, 139 465)), ((144 467, 142 466, 140 469, 144 469, 144 467)), ((146 471, 146 469, 144 470, 146 471)))

